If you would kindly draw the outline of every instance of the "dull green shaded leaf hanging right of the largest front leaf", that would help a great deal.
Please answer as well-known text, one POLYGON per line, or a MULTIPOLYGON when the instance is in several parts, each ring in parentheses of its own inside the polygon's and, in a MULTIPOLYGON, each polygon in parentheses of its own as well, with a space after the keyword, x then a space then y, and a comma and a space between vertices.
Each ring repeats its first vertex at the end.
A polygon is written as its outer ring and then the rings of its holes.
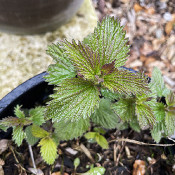
POLYGON ((120 119, 111 110, 110 106, 110 100, 101 99, 99 108, 97 108, 91 116, 92 122, 106 129, 116 128, 120 119))

